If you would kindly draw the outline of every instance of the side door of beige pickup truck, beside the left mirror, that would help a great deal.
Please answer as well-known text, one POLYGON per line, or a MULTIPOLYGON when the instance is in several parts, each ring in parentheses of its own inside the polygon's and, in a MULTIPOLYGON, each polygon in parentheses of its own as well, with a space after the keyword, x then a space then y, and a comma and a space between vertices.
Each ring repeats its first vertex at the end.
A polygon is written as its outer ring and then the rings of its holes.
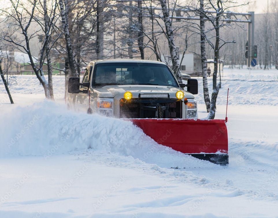
MULTIPOLYGON (((90 75, 92 71, 92 66, 87 67, 86 71, 84 73, 84 76, 82 78, 81 83, 83 82, 90 82, 90 75)), ((89 90, 88 87, 80 86, 80 93, 78 94, 78 110, 87 112, 89 108, 89 92, 88 93, 82 93, 82 91, 89 90)))

